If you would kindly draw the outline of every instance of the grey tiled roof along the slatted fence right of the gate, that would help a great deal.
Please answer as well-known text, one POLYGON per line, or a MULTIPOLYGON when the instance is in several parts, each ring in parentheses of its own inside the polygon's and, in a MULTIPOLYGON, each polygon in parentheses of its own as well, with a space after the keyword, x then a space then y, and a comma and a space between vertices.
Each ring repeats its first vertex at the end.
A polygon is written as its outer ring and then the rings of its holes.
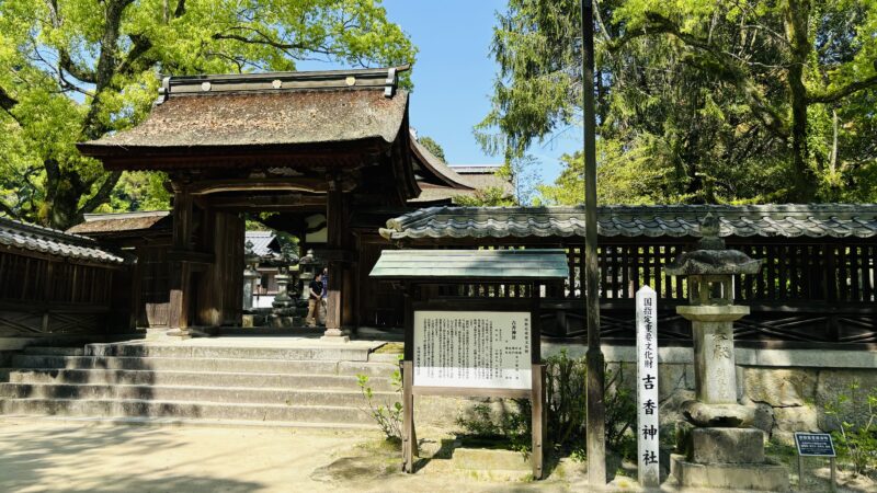
MULTIPOLYGON (((597 208, 602 237, 699 237, 707 213, 721 237, 873 238, 875 204, 670 205, 597 208)), ((387 221, 390 240, 418 238, 584 237, 583 207, 430 207, 387 221)))

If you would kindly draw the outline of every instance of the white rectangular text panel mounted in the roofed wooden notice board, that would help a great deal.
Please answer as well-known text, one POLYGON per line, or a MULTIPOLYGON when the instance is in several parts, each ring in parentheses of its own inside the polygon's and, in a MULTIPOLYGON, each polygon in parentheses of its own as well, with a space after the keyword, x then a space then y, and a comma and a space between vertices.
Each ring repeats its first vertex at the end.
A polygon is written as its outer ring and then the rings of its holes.
POLYGON ((414 387, 531 389, 529 312, 414 311, 414 387))

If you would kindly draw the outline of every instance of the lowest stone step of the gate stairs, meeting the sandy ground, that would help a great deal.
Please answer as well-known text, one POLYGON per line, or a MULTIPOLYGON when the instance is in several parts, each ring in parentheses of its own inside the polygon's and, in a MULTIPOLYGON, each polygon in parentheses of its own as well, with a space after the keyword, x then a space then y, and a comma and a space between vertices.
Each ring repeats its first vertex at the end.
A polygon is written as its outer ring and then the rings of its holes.
POLYGON ((346 406, 230 404, 112 399, 4 399, 3 414, 56 416, 139 416, 261 422, 374 423, 364 411, 346 406))

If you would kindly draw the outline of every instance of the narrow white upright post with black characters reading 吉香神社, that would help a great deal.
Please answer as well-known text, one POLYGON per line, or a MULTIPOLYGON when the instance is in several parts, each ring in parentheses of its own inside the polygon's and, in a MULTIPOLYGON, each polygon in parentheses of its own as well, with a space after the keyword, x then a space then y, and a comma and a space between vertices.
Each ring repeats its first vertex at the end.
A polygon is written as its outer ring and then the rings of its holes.
POLYGON ((639 482, 658 488, 658 299, 649 286, 637 291, 637 414, 639 482))

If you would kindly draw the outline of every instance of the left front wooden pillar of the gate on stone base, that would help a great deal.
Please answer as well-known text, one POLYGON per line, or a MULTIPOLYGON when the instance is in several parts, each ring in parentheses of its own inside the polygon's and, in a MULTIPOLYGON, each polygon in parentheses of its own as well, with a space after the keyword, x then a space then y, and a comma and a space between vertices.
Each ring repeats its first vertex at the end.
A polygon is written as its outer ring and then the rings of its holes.
MULTIPOLYGON (((185 185, 173 184, 173 253, 184 254, 192 249, 192 194, 185 185)), ((190 337, 190 305, 192 303, 192 264, 184 260, 171 262, 169 335, 190 337)))

